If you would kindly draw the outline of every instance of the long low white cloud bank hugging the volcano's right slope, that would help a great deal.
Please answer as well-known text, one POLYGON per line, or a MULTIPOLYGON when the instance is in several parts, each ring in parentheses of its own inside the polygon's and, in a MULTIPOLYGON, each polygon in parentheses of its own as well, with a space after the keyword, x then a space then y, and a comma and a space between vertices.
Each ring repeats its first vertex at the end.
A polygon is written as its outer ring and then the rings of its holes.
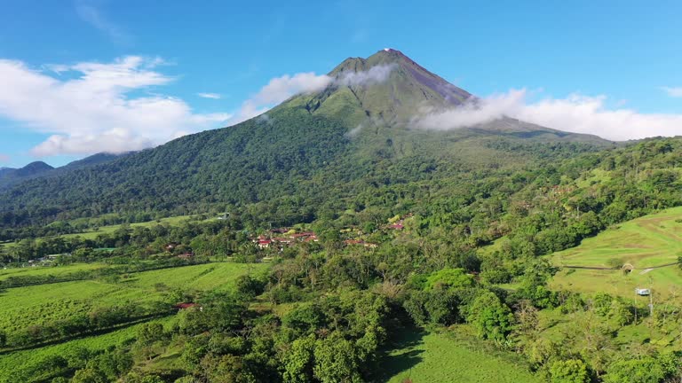
POLYGON ((526 95, 526 90, 510 90, 503 95, 480 99, 477 106, 424 113, 413 120, 413 125, 422 129, 457 129, 506 115, 552 129, 611 140, 682 135, 682 114, 610 109, 605 106, 605 96, 574 94, 567 98, 544 98, 527 103, 526 95))

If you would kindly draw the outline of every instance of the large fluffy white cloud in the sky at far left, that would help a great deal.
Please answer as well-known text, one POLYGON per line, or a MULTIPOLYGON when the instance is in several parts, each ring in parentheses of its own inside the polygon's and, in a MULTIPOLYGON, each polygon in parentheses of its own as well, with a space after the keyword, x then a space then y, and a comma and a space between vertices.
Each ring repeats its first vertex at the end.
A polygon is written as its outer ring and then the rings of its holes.
POLYGON ((0 59, 0 115, 52 134, 34 148, 39 156, 139 150, 178 132, 215 128, 231 117, 195 114, 178 98, 139 95, 173 80, 154 70, 160 63, 137 56, 108 64, 83 62, 59 66, 61 75, 53 77, 0 59))

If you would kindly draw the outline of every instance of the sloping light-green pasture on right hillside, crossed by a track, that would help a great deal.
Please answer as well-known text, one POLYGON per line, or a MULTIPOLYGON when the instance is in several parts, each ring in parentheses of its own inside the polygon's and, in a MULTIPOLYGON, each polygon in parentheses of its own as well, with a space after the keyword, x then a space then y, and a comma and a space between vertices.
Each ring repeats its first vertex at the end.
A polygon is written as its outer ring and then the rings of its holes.
POLYGON ((583 293, 612 293, 632 297, 636 287, 652 287, 661 298, 682 296, 682 271, 677 266, 652 269, 677 262, 682 255, 682 207, 622 223, 583 240, 580 246, 551 255, 557 266, 609 267, 609 260, 630 263, 634 270, 563 269, 551 287, 583 293))

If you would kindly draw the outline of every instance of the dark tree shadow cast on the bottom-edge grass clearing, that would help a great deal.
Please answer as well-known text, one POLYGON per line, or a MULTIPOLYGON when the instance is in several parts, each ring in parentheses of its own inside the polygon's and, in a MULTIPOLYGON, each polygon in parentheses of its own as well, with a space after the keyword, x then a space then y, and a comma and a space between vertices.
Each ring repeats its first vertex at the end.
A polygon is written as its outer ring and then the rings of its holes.
POLYGON ((426 332, 419 328, 406 328, 389 342, 379 364, 381 371, 377 375, 381 377, 380 381, 388 381, 396 375, 403 374, 424 360, 421 356, 424 350, 416 347, 424 343, 425 334, 426 332))

